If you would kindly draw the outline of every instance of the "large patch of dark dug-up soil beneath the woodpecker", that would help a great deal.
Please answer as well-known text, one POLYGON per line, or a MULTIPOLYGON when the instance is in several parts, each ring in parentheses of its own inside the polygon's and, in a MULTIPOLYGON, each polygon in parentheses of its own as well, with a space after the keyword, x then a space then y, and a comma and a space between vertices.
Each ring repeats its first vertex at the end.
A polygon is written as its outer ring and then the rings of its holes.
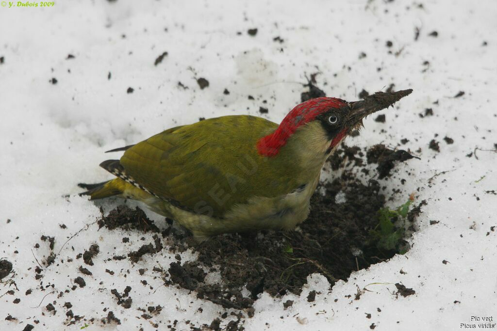
MULTIPOLYGON (((166 249, 171 253, 192 248, 199 255, 197 261, 181 263, 178 255, 168 267, 154 271, 160 272, 167 285, 194 291, 198 298, 225 308, 243 309, 251 316, 252 305, 263 291, 273 296, 287 292, 298 294, 307 283, 307 276, 315 272, 325 275, 333 285, 338 279, 346 280, 352 271, 385 261, 397 253, 379 249, 370 234, 378 225, 377 212, 384 207, 386 199, 381 185, 373 179, 376 174, 368 175, 371 179, 365 185, 357 180, 357 172, 368 174, 365 157, 360 148, 342 144, 329 162, 332 168, 352 165, 354 171, 344 170, 341 178, 321 188, 325 195, 316 193, 312 197, 311 212, 299 226, 301 231, 226 234, 199 244, 189 234, 172 226, 161 232, 141 209, 126 206, 114 209, 98 224, 110 230, 119 227, 155 233, 154 242, 128 254, 132 262, 163 250, 163 241, 167 242, 166 249), (345 202, 335 202, 338 193, 345 195, 345 202), (221 284, 206 284, 205 270, 220 272, 221 284), (248 297, 242 295, 244 286, 250 292, 248 297)), ((384 167, 389 171, 382 173, 386 177, 390 176, 390 170, 396 164, 394 161, 412 157, 406 151, 393 151, 383 145, 374 146, 367 152, 368 163, 388 164, 384 167)), ((411 213, 408 222, 414 222, 419 212, 420 209, 411 213)), ((167 222, 172 224, 170 220, 167 222)), ((118 303, 128 308, 131 299, 124 299, 126 293, 114 292, 118 303)), ((313 299, 311 294, 308 300, 313 299)))

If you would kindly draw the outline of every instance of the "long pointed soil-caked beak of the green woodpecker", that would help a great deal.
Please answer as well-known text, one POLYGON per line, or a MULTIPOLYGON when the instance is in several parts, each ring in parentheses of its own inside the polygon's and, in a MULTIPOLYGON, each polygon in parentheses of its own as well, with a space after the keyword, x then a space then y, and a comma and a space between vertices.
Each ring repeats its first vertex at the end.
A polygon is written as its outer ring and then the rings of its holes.
POLYGON ((395 102, 412 92, 412 89, 397 92, 376 92, 367 96, 364 100, 349 102, 350 112, 347 116, 347 126, 351 129, 362 126, 363 118, 392 106, 395 102))

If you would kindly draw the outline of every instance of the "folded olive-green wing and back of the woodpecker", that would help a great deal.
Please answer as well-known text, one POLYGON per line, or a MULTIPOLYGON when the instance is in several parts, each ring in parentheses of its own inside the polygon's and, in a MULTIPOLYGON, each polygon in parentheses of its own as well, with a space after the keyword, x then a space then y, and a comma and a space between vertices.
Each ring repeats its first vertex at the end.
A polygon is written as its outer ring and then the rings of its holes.
POLYGON ((159 197, 193 211, 208 206, 221 217, 251 197, 277 197, 301 184, 279 180, 279 172, 288 169, 274 167, 257 153, 257 140, 276 128, 253 116, 204 120, 134 145, 120 163, 128 176, 159 197))

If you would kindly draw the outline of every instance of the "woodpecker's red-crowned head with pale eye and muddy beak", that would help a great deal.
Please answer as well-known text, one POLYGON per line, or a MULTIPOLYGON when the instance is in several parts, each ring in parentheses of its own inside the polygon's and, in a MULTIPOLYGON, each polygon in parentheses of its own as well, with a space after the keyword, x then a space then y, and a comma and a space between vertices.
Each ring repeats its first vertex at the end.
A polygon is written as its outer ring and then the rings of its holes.
POLYGON ((376 92, 355 102, 325 97, 305 101, 292 109, 274 132, 257 142, 257 150, 263 156, 276 156, 291 141, 302 149, 328 155, 362 126, 366 116, 392 106, 412 91, 376 92))

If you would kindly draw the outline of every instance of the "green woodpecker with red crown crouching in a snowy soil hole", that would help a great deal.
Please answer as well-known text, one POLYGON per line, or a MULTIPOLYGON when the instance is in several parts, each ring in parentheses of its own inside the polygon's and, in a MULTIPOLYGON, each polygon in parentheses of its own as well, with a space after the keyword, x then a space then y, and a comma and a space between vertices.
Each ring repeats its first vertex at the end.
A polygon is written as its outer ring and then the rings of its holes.
POLYGON ((134 145, 100 167, 115 176, 79 184, 91 200, 144 202, 203 241, 223 233, 291 230, 310 212, 328 157, 363 119, 413 90, 376 92, 347 102, 318 97, 295 106, 278 125, 232 115, 178 126, 134 145))

